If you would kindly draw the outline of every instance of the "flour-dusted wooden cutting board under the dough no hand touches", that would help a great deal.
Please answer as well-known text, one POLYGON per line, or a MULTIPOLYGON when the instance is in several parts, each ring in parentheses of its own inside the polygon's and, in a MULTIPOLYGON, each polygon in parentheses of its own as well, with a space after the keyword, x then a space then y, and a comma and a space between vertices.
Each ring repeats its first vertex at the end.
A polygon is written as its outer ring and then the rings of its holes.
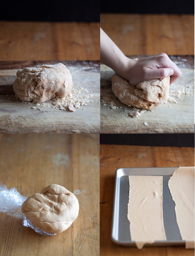
MULTIPOLYGON (((82 87, 93 103, 75 112, 44 107, 33 109, 15 97, 16 72, 25 67, 55 64, 59 61, 0 62, 0 132, 1 133, 100 133, 100 62, 60 61, 70 71, 73 88, 82 87), (93 96, 93 94, 95 96, 93 96)), ((47 101, 52 105, 52 101, 47 101)))

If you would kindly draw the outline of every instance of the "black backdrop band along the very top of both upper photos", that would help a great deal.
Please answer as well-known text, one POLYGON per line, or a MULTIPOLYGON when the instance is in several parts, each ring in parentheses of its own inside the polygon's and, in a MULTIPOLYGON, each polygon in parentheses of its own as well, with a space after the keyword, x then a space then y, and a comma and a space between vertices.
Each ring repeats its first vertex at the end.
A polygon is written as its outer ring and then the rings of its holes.
POLYGON ((56 0, 3 1, 1 20, 100 22, 102 13, 194 13, 194 1, 56 0), (101 3, 100 3, 101 2, 101 3))

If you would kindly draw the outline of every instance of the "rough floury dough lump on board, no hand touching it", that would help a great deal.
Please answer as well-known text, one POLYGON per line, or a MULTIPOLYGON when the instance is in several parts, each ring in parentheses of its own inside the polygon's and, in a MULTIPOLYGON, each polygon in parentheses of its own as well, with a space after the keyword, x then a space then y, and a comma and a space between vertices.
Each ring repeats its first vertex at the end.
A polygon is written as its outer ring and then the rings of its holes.
POLYGON ((69 70, 62 63, 57 63, 17 71, 13 90, 21 100, 38 103, 68 96, 72 85, 69 70))

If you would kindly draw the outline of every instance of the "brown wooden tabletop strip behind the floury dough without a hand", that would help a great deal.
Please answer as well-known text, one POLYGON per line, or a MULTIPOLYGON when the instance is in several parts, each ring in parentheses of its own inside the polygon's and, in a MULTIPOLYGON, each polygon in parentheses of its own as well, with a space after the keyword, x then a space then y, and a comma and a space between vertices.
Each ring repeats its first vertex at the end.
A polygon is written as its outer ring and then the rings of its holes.
POLYGON ((0 60, 100 60, 100 24, 0 21, 0 60))

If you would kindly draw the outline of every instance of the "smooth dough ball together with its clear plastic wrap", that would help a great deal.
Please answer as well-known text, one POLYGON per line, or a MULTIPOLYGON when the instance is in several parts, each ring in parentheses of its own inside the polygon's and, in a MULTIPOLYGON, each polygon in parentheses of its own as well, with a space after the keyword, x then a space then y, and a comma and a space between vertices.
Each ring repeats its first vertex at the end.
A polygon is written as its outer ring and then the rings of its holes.
POLYGON ((0 183, 0 212, 23 219, 23 225, 42 235, 66 230, 77 218, 79 202, 75 195, 60 185, 52 184, 29 198, 15 187, 0 183))

